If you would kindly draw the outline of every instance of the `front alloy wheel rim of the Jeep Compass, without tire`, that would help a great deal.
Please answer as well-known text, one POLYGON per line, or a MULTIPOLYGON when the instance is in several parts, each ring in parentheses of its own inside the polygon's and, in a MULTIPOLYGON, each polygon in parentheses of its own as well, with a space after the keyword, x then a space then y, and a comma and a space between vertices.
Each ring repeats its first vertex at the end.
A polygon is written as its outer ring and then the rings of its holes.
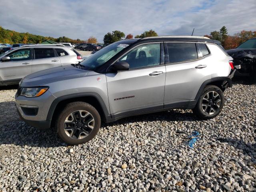
POLYGON ((72 139, 83 139, 90 135, 94 124, 92 114, 85 110, 76 110, 66 117, 64 132, 72 139))

